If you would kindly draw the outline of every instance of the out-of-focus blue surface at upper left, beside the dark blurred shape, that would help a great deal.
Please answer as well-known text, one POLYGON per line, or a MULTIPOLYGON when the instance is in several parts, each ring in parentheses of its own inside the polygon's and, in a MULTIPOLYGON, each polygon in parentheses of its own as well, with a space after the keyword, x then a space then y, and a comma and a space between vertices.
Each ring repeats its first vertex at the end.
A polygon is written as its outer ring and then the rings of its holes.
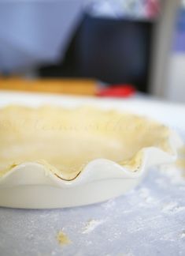
POLYGON ((84 2, 0 2, 0 73, 62 58, 84 2))

